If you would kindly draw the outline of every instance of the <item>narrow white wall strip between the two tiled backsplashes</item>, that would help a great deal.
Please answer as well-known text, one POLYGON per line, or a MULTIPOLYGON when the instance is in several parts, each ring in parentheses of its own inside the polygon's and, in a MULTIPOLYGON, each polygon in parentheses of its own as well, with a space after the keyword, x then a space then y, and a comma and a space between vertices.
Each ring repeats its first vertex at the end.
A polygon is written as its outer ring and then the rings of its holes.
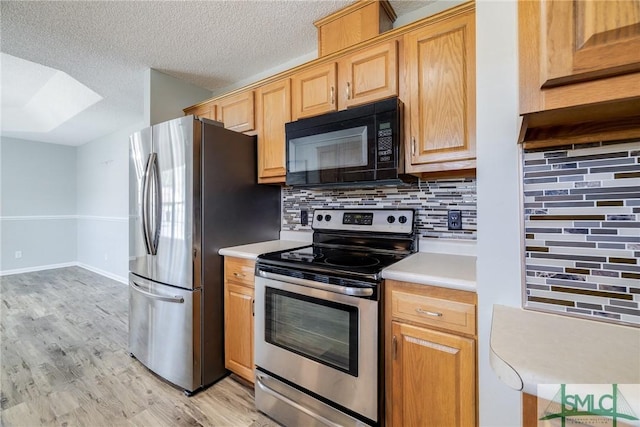
POLYGON ((517 2, 476 3, 480 425, 521 425, 520 393, 489 366, 493 304, 521 305, 517 2))

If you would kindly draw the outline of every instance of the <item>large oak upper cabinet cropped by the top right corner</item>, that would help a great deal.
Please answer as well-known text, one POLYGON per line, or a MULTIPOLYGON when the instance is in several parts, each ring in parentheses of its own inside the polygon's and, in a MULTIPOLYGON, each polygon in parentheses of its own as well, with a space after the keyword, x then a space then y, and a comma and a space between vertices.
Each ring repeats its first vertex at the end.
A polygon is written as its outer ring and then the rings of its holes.
POLYGON ((520 0, 522 114, 640 96, 640 2, 520 0))

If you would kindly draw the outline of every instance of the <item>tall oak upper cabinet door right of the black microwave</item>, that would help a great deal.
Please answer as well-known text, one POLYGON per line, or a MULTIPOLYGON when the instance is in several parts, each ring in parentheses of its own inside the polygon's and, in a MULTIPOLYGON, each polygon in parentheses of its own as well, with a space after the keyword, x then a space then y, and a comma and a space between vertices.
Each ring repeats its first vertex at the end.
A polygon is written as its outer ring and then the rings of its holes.
POLYGON ((410 172, 475 167, 475 14, 405 36, 410 172))

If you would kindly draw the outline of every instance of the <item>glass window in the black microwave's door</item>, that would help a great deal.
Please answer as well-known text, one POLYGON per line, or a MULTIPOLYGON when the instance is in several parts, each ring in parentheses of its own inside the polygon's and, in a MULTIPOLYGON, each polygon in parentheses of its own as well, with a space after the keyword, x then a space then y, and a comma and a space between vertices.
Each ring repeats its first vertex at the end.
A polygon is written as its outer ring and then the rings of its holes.
POLYGON ((367 127, 289 140, 289 172, 367 166, 367 127))

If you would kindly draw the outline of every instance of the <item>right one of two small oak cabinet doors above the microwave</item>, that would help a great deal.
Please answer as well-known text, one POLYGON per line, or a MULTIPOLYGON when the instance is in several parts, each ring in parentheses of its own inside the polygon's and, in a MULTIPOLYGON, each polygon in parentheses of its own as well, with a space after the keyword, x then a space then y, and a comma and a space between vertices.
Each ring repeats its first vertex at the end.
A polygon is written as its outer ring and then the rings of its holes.
POLYGON ((398 95, 395 40, 348 55, 338 64, 340 109, 398 95))

